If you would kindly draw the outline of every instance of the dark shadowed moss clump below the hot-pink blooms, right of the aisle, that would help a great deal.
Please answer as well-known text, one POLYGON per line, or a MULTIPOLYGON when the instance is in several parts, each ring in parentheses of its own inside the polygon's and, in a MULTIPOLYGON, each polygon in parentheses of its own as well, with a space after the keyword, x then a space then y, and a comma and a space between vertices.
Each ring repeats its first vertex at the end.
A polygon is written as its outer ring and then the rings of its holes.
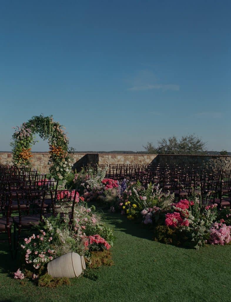
POLYGON ((166 244, 173 244, 175 246, 188 245, 191 240, 190 234, 182 231, 179 228, 171 229, 169 226, 156 226, 154 229, 155 241, 166 244))

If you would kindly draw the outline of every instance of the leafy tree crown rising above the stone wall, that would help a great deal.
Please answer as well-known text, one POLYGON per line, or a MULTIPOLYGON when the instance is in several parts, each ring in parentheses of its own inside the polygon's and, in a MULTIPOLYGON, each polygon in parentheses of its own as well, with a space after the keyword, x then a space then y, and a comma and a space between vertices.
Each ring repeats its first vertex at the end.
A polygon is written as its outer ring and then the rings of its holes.
POLYGON ((195 133, 182 136, 180 140, 173 135, 158 140, 158 147, 155 148, 152 143, 143 146, 150 154, 206 154, 206 143, 201 138, 196 137, 195 133))

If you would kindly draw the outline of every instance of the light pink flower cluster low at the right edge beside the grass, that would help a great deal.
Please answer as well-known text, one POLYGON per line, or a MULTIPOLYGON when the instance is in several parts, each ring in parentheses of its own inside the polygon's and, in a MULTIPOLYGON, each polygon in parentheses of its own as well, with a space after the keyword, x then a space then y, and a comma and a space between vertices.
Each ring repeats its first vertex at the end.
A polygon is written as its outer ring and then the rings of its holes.
POLYGON ((224 222, 224 220, 220 220, 220 223, 215 222, 212 224, 212 226, 209 230, 209 232, 210 232, 209 243, 210 244, 224 245, 225 243, 229 243, 229 241, 231 240, 231 237, 230 237, 231 226, 226 226, 226 224, 223 222, 224 222))

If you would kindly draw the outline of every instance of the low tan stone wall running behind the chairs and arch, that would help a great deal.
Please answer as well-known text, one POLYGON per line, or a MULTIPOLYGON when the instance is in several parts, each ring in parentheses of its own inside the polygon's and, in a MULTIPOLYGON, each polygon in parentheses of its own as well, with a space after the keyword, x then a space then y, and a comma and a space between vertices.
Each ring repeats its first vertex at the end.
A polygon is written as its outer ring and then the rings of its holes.
MULTIPOLYGON (((48 173, 48 152, 32 153, 32 168, 41 173, 48 173)), ((207 165, 213 168, 231 169, 231 156, 217 155, 169 155, 169 154, 108 154, 108 153, 74 153, 73 167, 79 171, 82 166, 91 164, 161 164, 178 163, 183 165, 207 165)), ((0 152, 0 165, 12 165, 12 153, 0 152)))

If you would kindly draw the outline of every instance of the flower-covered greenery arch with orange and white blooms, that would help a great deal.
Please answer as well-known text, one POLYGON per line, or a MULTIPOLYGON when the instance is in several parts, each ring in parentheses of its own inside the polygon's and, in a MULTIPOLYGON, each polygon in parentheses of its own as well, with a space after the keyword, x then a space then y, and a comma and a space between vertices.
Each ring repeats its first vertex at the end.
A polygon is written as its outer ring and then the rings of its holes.
POLYGON ((31 165, 31 147, 36 143, 35 134, 43 140, 48 139, 50 176, 63 179, 71 171, 71 155, 68 151, 69 140, 59 122, 53 116, 33 116, 20 127, 14 127, 11 146, 13 147, 13 162, 16 165, 31 165))

